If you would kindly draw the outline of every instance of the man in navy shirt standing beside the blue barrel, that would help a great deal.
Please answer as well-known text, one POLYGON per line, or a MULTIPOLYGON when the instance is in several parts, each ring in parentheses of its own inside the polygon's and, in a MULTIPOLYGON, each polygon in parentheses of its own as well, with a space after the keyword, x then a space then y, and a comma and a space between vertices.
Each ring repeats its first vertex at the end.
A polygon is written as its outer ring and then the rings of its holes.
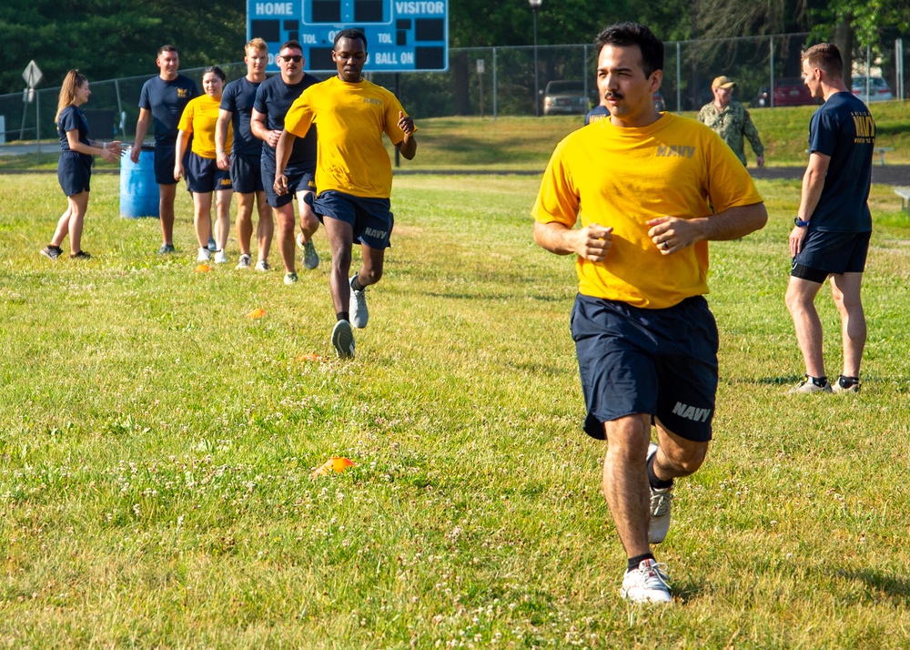
MULTIPOLYGON (((134 164, 139 162, 142 141, 148 127, 155 127, 155 182, 158 184, 158 214, 161 219, 159 253, 174 252, 174 198, 177 181, 174 179, 174 157, 177 151, 177 123, 190 99, 199 95, 196 82, 177 73, 180 57, 177 47, 161 46, 155 63, 158 76, 149 79, 139 95, 139 121, 136 122, 136 143, 130 152, 134 164)), ((187 154, 189 147, 187 147, 187 154)))

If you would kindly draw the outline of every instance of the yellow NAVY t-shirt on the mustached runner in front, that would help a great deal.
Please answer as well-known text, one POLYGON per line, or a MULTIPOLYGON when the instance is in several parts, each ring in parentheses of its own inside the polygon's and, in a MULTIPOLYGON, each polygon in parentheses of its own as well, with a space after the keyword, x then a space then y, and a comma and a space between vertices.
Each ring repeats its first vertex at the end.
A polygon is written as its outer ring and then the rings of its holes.
POLYGON ((568 228, 612 227, 602 262, 575 263, 579 292, 663 309, 708 292, 708 243, 662 255, 648 237, 659 217, 700 218, 762 201, 743 163, 710 128, 662 114, 642 128, 602 119, 565 137, 531 214, 568 228))

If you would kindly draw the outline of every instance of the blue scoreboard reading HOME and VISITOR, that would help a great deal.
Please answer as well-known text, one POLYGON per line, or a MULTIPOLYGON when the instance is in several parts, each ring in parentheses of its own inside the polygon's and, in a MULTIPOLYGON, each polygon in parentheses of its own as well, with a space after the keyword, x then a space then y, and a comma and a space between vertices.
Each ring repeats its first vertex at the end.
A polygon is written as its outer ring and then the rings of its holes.
POLYGON ((247 0, 247 36, 268 43, 269 72, 288 40, 300 42, 308 71, 335 72, 335 35, 349 27, 367 36, 364 72, 449 69, 448 0, 247 0))

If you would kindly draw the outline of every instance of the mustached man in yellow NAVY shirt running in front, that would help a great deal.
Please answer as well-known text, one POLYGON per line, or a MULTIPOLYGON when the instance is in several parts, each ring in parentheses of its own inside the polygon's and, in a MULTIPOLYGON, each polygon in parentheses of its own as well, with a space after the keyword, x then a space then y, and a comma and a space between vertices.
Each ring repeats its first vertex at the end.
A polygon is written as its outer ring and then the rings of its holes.
POLYGON ((768 215, 717 134, 654 107, 663 44, 651 30, 612 25, 594 45, 610 117, 556 147, 532 210, 534 240, 577 256, 571 334, 584 431, 607 441, 602 488, 627 558, 621 594, 670 603, 651 544, 670 526, 673 480, 704 461, 717 389, 707 242, 744 237, 768 215))

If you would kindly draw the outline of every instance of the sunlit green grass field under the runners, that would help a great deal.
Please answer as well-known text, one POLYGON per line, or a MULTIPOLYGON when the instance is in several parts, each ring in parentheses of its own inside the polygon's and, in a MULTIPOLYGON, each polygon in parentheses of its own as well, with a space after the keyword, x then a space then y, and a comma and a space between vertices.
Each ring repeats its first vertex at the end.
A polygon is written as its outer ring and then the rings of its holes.
POLYGON ((322 230, 293 287, 195 273, 186 193, 163 259, 157 219, 119 218, 98 175, 95 259, 51 263, 56 177, 0 178, 0 645, 910 646, 910 225, 891 188, 873 190, 859 395, 785 394, 799 183, 759 182, 767 228, 712 245, 715 442, 678 483, 658 608, 619 598, 574 270, 531 240, 537 178, 397 178, 351 362, 329 345, 322 230), (311 478, 331 456, 357 464, 311 478))

